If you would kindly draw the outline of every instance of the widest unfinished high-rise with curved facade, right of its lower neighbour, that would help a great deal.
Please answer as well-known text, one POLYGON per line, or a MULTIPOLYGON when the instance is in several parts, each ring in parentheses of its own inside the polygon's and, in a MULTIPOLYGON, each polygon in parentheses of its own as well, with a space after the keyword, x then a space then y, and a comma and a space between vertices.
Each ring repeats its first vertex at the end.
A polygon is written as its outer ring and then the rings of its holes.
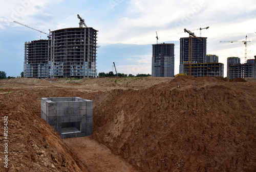
POLYGON ((97 32, 93 28, 53 31, 51 78, 96 77, 97 32))

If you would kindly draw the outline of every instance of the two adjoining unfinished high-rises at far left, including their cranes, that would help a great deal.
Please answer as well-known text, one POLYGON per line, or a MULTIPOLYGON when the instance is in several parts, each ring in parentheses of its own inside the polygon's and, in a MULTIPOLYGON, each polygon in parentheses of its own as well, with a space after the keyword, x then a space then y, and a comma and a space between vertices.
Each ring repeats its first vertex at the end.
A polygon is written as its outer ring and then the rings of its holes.
POLYGON ((52 31, 48 34, 49 40, 25 42, 24 77, 81 79, 97 76, 98 31, 88 28, 84 19, 77 17, 79 28, 52 31))

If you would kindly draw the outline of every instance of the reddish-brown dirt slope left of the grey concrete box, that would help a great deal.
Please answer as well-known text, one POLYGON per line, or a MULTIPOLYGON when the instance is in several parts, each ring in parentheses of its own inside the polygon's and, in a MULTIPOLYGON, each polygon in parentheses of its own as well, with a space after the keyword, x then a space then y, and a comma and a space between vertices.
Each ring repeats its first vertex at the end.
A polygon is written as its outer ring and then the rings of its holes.
POLYGON ((40 118, 40 101, 27 91, 2 89, 0 114, 1 171, 89 171, 40 118), (4 116, 8 116, 8 168, 3 165, 4 116))

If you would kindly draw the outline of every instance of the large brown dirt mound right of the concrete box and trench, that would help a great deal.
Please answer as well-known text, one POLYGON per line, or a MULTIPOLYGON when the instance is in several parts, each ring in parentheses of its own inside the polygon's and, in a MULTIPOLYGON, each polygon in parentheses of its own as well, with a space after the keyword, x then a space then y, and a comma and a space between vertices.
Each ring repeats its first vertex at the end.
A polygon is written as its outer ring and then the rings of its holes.
POLYGON ((93 137, 143 171, 255 171, 255 90, 193 77, 113 90, 95 107, 93 137))

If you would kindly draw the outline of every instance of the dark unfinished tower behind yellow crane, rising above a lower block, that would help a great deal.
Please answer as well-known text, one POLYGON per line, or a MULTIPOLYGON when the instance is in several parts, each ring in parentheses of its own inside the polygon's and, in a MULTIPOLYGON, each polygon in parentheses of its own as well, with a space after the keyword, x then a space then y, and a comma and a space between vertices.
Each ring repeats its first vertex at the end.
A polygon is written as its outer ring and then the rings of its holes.
MULTIPOLYGON (((195 37, 191 40, 191 63, 205 63, 206 60, 206 39, 207 37, 200 37, 202 41, 195 37)), ((180 38, 180 67, 179 72, 184 72, 184 62, 189 61, 189 37, 180 38)))

